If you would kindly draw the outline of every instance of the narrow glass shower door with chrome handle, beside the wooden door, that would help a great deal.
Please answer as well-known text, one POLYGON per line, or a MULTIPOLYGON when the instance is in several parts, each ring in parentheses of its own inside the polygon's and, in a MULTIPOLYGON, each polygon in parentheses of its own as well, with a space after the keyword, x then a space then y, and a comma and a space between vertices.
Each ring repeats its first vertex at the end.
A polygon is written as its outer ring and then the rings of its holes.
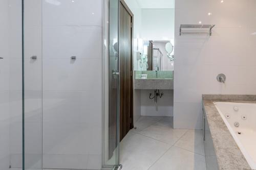
POLYGON ((104 166, 119 169, 119 0, 105 1, 104 166))

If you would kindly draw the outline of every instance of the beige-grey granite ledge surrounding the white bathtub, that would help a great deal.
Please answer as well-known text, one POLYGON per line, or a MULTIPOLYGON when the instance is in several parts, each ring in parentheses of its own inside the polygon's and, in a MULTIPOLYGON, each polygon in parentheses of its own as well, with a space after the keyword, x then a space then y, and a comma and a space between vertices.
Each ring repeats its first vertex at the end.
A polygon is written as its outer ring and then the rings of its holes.
POLYGON ((213 102, 256 103, 256 95, 203 95, 203 109, 208 120, 219 168, 251 169, 213 102))

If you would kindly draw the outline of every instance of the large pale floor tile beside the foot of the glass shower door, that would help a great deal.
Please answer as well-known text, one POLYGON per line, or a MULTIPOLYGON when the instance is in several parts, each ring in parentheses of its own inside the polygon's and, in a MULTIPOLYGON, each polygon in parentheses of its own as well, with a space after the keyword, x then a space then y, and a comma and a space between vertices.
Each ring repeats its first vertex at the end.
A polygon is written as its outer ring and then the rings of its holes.
POLYGON ((171 145, 129 132, 120 143, 122 170, 148 169, 171 145))

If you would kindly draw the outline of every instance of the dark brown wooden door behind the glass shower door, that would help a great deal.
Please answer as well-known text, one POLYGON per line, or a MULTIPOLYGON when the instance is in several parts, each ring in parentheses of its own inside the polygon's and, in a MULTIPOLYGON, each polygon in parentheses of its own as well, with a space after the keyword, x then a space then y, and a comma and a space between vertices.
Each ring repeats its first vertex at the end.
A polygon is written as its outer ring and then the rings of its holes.
POLYGON ((132 13, 120 1, 120 141, 133 128, 132 13))

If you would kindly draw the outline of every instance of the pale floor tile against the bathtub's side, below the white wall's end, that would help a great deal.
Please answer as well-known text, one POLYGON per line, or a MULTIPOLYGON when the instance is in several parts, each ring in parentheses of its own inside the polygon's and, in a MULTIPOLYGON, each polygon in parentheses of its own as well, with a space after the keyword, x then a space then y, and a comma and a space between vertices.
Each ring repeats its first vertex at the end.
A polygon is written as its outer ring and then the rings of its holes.
POLYGON ((188 130, 178 141, 175 143, 176 147, 204 155, 204 143, 201 130, 188 130))

